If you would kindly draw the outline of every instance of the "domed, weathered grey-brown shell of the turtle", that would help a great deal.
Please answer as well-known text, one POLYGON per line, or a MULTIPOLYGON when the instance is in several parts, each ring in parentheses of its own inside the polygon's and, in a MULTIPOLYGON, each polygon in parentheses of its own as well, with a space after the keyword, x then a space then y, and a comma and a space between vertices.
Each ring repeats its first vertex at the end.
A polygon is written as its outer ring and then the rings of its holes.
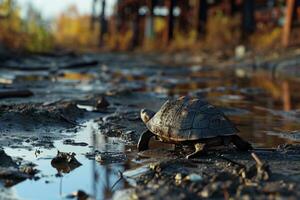
POLYGON ((147 122, 148 129, 165 141, 185 142, 238 132, 215 106, 198 98, 167 101, 147 122))

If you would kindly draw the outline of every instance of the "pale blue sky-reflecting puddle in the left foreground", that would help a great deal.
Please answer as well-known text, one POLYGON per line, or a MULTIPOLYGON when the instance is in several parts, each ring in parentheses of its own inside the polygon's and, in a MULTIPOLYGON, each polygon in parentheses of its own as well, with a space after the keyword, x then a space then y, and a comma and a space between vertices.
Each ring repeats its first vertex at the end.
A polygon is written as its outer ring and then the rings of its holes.
MULTIPOLYGON (((118 138, 106 138, 98 131, 97 124, 93 120, 83 124, 83 128, 73 138, 76 142, 85 142, 89 146, 65 145, 63 142, 55 141, 53 149, 35 148, 32 150, 9 148, 5 151, 13 157, 21 157, 26 161, 31 161, 40 170, 40 179, 26 180, 11 189, 14 196, 21 199, 65 199, 67 195, 83 190, 96 197, 96 199, 107 199, 111 197, 115 190, 124 188, 123 180, 119 180, 119 172, 125 170, 124 164, 113 163, 101 165, 95 160, 88 159, 85 154, 95 149, 99 151, 125 151, 125 146, 117 142, 118 138), (97 133, 95 133, 97 131, 97 133), (93 135, 96 135, 97 144, 94 145, 93 135), (35 155, 35 151, 40 153, 35 155), (57 177, 57 170, 51 166, 51 159, 56 156, 57 151, 74 152, 80 163, 80 167, 70 173, 57 177), (118 183, 114 185, 116 182, 118 183), (114 187, 113 187, 114 186, 114 187), (113 188, 112 188, 113 187, 113 188), (28 192, 32 191, 32 192, 28 192), (47 192, 45 192, 47 191, 47 192)), ((70 134, 70 133, 65 133, 70 134)), ((11 195, 11 194, 10 194, 11 195)))

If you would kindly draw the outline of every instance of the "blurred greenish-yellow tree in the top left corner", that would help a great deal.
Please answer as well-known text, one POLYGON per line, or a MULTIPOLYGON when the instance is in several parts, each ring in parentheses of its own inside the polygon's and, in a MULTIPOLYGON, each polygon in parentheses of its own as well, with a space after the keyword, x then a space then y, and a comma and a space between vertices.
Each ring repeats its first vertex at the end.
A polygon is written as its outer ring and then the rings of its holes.
POLYGON ((6 13, 1 14, 6 17, 0 20, 0 43, 16 50, 48 51, 52 48, 47 23, 30 4, 24 19, 14 0, 0 1, 0 12, 6 13))

